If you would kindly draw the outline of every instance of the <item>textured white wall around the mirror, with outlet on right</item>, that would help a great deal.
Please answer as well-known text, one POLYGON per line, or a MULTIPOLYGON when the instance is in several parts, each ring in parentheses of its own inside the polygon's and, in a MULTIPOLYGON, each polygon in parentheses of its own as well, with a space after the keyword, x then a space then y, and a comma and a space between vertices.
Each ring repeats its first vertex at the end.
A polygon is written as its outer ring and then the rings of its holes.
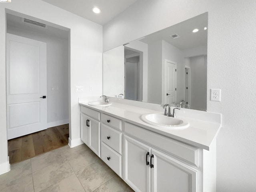
POLYGON ((222 114, 218 192, 256 191, 255 10, 254 0, 138 1, 103 27, 109 50, 208 12, 207 110, 222 114), (221 102, 210 101, 210 88, 221 89, 221 102))

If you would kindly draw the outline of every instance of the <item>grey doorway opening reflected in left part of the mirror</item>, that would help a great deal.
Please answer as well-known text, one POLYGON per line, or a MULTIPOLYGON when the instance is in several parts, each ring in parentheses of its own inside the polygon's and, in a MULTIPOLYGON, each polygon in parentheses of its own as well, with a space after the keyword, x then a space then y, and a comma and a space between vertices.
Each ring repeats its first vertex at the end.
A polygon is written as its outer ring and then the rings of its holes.
POLYGON ((124 48, 124 98, 140 98, 140 52, 124 48))

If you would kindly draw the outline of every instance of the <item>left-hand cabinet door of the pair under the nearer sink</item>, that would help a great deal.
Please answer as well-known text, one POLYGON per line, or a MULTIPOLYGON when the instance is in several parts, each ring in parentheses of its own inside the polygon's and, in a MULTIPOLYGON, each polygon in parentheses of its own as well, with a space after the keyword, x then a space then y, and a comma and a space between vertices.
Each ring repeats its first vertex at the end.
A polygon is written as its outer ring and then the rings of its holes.
POLYGON ((136 192, 150 191, 150 147, 141 142, 124 136, 124 180, 136 192))

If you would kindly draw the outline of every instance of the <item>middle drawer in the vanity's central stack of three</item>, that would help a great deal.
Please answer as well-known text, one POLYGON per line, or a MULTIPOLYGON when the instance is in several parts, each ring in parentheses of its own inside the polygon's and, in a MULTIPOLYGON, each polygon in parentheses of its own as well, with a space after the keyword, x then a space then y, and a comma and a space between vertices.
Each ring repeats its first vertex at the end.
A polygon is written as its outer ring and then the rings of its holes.
POLYGON ((110 146, 119 154, 122 153, 122 133, 106 126, 105 124, 101 124, 100 126, 100 138, 101 141, 110 146))

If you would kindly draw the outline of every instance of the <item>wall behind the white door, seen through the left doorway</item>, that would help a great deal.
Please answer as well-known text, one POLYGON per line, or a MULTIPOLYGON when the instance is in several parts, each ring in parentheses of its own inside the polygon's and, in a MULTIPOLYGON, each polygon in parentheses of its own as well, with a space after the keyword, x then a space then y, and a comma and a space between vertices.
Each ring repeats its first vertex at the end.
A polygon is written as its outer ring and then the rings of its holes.
POLYGON ((68 34, 67 39, 63 39, 9 25, 7 32, 46 42, 47 127, 68 123, 68 34), (58 90, 52 90, 52 87, 58 87, 58 90))

